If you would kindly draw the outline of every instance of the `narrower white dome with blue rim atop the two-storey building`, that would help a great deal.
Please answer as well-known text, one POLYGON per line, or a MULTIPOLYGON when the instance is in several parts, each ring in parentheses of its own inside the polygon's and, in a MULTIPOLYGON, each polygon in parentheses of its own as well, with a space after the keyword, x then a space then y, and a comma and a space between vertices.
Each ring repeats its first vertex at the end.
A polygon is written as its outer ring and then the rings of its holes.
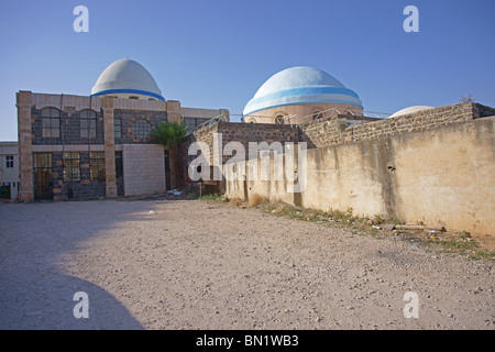
POLYGON ((153 76, 141 64, 122 58, 108 66, 91 89, 92 96, 140 96, 165 100, 153 76))

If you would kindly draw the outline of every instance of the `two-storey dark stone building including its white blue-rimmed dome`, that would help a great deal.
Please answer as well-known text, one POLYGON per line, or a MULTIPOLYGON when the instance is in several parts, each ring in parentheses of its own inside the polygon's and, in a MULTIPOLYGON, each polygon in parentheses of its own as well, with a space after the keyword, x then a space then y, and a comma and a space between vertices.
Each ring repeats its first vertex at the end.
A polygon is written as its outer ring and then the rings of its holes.
POLYGON ((166 100, 152 75, 132 59, 103 70, 90 96, 16 94, 19 200, 91 199, 152 195, 177 175, 168 150, 150 136, 161 121, 194 130, 224 109, 166 100))

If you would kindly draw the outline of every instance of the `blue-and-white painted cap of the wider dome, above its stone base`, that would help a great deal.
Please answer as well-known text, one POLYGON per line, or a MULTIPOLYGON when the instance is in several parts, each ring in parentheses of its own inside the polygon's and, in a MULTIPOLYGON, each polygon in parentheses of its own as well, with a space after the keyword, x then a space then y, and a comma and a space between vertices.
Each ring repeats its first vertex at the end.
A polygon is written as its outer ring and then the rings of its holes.
POLYGON ((318 68, 297 66, 268 78, 248 102, 243 114, 307 103, 344 103, 363 109, 359 96, 337 78, 318 68))

